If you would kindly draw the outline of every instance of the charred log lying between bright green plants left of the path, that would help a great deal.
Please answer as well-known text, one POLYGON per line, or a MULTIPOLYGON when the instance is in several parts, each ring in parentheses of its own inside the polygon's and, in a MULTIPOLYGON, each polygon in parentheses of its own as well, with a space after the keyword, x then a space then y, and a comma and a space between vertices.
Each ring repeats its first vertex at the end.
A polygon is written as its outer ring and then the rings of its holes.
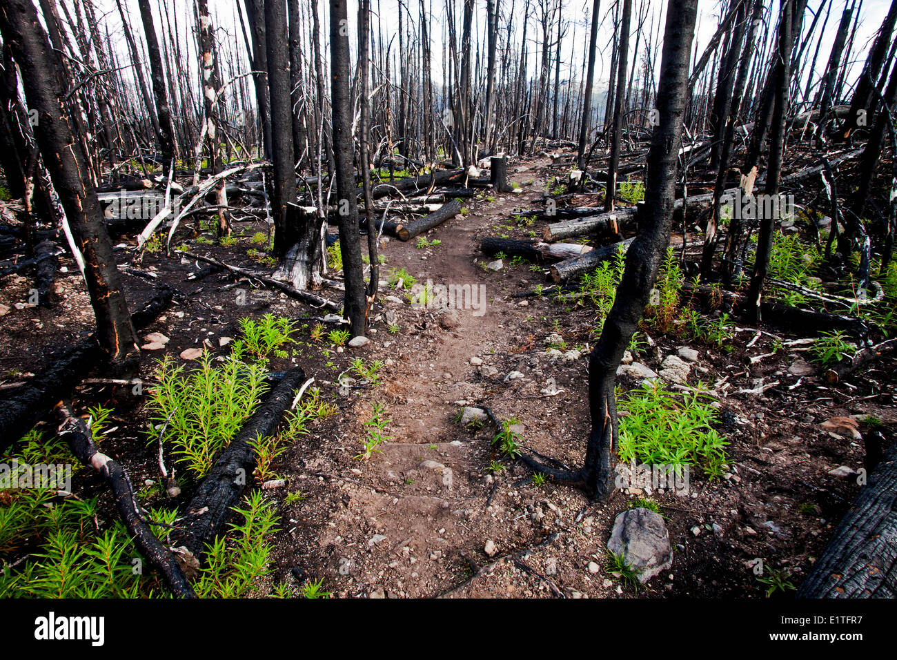
POLYGON ((298 366, 283 374, 281 382, 215 461, 179 520, 179 529, 171 533, 170 541, 179 555, 199 559, 206 544, 223 531, 256 466, 256 454, 249 443, 274 435, 290 408, 293 391, 304 380, 305 372, 298 366))

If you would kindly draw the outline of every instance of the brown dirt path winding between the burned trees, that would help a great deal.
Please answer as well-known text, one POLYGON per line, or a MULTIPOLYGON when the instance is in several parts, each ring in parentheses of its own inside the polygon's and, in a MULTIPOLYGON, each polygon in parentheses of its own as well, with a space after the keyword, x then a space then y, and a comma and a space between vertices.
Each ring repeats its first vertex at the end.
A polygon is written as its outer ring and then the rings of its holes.
MULTIPOLYGON (((550 503, 548 491, 519 483, 529 476, 522 468, 514 475, 493 474, 489 466, 497 456, 489 439, 494 430, 487 425, 472 433, 456 421, 463 405, 477 402, 497 406, 499 414, 504 408, 508 415, 522 417, 526 402, 515 392, 543 386, 503 380, 520 361, 529 359, 507 351, 529 336, 526 324, 532 317, 526 306, 507 294, 511 288, 532 285, 519 277, 520 268, 485 270, 483 260, 491 259, 479 252, 483 233, 507 222, 513 209, 527 207, 541 196, 543 180, 534 180, 530 173, 517 179, 532 181, 523 194, 499 195, 427 235, 440 245, 425 250, 416 249, 414 242, 386 246, 386 272, 404 267, 422 285, 476 287, 485 294, 485 308, 440 311, 387 301, 388 309, 402 308, 400 322, 412 328, 399 339, 383 338, 383 330, 373 335, 370 354, 388 358, 387 383, 370 399, 360 397, 353 403, 349 418, 356 423, 350 424, 343 440, 352 444, 353 431, 356 436, 363 433, 361 422, 370 418, 374 400, 388 406, 391 439, 379 446, 382 453, 366 462, 347 460, 352 453, 347 447, 325 449, 304 461, 306 471, 297 475, 300 484, 305 477, 303 492, 310 481, 309 469, 318 486, 330 488, 309 493, 309 500, 316 502, 305 509, 316 513, 311 519, 293 518, 302 523, 292 529, 293 539, 300 543, 281 543, 280 550, 292 555, 289 560, 300 571, 325 577, 341 595, 532 596, 551 595, 557 589, 544 575, 554 575, 560 561, 552 556, 552 544, 562 527, 586 517, 581 515, 584 499, 564 490, 553 493, 550 503), (485 364, 482 373, 471 364, 473 357, 485 364), (499 374, 488 377, 494 370, 490 363, 507 357, 510 366, 502 365, 499 374), (507 395, 510 405, 503 404, 507 395), (326 505, 321 497, 327 499, 326 505), (537 568, 520 556, 509 556, 519 550, 527 554, 529 548, 541 558, 537 568), (323 557, 316 557, 316 549, 323 557), (484 566, 488 568, 481 574, 484 566)), ((534 281, 540 279, 536 274, 534 281)), ((384 297, 394 294, 387 291, 384 297)), ((588 524, 590 520, 587 529, 588 524)))

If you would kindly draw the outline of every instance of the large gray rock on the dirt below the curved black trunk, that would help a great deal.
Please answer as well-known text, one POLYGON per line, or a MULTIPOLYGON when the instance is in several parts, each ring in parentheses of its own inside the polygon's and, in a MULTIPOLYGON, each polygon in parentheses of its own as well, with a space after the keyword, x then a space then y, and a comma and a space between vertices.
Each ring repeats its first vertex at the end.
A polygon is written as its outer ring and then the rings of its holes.
POLYGON ((645 508, 617 515, 607 550, 622 554, 644 584, 673 566, 673 548, 664 519, 645 508))

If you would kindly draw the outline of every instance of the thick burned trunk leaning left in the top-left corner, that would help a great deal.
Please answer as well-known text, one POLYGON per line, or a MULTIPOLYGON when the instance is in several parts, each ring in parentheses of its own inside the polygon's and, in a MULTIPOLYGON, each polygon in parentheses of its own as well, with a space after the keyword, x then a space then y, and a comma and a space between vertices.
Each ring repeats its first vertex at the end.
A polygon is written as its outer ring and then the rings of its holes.
POLYGON ((74 139, 69 116, 63 109, 69 85, 61 77, 47 33, 30 0, 11 0, 0 7, 0 31, 13 48, 28 105, 38 112, 35 136, 40 155, 65 209, 75 243, 83 253, 84 277, 97 320, 100 348, 110 362, 120 362, 139 350, 137 338, 118 280, 109 234, 100 220, 100 206, 93 191, 95 181, 82 178, 88 172, 87 156, 74 139))

